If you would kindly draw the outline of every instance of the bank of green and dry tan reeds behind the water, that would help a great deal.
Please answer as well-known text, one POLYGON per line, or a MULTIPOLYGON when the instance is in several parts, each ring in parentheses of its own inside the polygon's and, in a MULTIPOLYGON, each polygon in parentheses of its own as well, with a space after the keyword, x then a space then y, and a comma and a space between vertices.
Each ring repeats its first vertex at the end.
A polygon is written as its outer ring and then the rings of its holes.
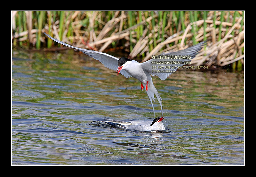
POLYGON ((243 70, 244 11, 12 11, 13 46, 44 50, 54 38, 96 51, 119 50, 145 62, 152 55, 207 40, 192 65, 243 70))

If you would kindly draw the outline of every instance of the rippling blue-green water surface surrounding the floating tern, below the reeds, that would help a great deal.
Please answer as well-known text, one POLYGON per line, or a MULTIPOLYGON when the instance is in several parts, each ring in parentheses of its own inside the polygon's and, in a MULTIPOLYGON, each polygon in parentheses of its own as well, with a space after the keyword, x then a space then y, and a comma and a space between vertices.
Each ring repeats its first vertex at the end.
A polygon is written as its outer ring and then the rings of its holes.
POLYGON ((244 165, 243 73, 153 77, 166 131, 135 132, 89 123, 153 120, 136 79, 72 50, 12 56, 12 165, 244 165))

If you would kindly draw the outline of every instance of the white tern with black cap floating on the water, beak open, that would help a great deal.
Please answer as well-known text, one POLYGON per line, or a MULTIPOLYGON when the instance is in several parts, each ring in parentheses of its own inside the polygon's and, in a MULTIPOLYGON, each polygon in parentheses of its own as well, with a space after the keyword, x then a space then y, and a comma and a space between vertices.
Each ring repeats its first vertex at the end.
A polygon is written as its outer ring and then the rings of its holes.
POLYGON ((115 128, 127 129, 127 130, 137 130, 137 131, 164 131, 163 124, 164 117, 157 117, 152 121, 143 120, 143 121, 117 121, 111 119, 93 121, 89 125, 110 125, 115 128))

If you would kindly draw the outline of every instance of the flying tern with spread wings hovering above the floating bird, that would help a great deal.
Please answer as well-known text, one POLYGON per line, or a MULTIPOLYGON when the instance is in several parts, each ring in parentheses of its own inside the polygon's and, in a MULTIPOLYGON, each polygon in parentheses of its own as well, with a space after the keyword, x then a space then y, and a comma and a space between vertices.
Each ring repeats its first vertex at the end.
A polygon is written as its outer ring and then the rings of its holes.
POLYGON ((150 59, 146 62, 139 63, 135 60, 131 60, 125 57, 121 57, 119 59, 115 56, 108 55, 103 52, 77 48, 69 44, 66 44, 62 41, 59 41, 57 39, 54 39, 46 33, 44 34, 50 39, 52 39, 53 41, 56 41, 64 46, 77 49, 83 52, 84 54, 96 60, 99 60, 100 63, 102 63, 108 69, 115 70, 117 74, 120 73, 126 78, 134 77, 138 79, 140 81, 141 90, 143 91, 143 89, 145 88, 146 93, 148 94, 148 98, 153 108, 154 117, 155 117, 155 109, 152 103, 152 100, 155 102, 154 95, 156 95, 156 98, 161 107, 161 111, 162 111, 161 117, 163 117, 163 107, 162 107, 162 98, 160 97, 159 93, 156 90, 156 87, 152 82, 151 75, 158 76, 161 80, 165 80, 169 75, 175 72, 178 69, 178 67, 184 64, 188 64, 190 59, 194 58, 195 55, 201 50, 201 48, 205 44, 205 41, 200 42, 184 50, 171 52, 171 53, 163 53, 161 55, 158 55, 159 56, 158 59, 150 59), (156 61, 164 62, 164 63, 157 64, 156 61), (160 70, 161 72, 154 72, 154 68, 159 68, 159 66, 162 66, 160 70))

